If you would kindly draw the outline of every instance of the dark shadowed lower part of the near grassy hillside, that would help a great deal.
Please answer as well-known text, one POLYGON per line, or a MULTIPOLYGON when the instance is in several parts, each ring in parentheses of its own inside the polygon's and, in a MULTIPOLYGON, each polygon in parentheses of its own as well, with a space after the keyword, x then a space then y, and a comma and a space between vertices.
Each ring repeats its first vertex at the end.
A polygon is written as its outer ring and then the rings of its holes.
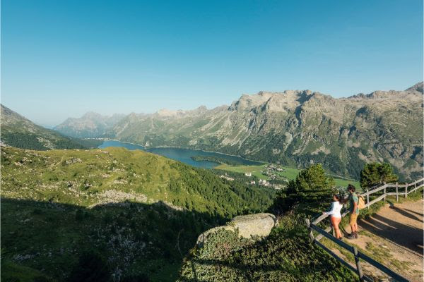
POLYGON ((1 280, 28 281, 25 269, 33 269, 47 281, 69 281, 81 256, 95 252, 105 259, 110 276, 119 275, 122 281, 126 277, 139 281, 137 275, 175 281, 198 235, 226 220, 216 214, 175 210, 163 202, 120 202, 88 209, 1 198, 2 262, 23 266, 17 268, 22 273, 2 269, 1 280))

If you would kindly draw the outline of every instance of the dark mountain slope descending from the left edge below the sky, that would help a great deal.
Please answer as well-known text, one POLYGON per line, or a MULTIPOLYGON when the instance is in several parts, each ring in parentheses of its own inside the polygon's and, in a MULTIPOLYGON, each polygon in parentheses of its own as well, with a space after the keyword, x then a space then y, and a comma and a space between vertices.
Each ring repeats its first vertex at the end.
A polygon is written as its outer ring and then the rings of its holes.
POLYGON ((1 142, 24 149, 87 149, 95 144, 43 128, 1 105, 1 142))

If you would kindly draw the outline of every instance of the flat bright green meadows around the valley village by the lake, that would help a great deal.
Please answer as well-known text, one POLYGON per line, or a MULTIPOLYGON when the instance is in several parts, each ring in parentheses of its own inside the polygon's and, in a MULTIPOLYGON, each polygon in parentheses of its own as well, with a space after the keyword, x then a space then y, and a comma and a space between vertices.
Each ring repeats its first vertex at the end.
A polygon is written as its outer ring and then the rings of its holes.
MULTIPOLYGON (((264 176, 261 173, 261 170, 264 169, 264 166, 266 166, 266 164, 261 166, 230 166, 228 164, 220 164, 219 166, 216 166, 215 168, 222 169, 225 171, 252 173, 252 175, 257 176, 258 178, 268 180, 269 178, 267 176, 264 176)), ((297 168, 289 168, 286 166, 284 166, 283 168, 284 168, 284 171, 279 172, 278 174, 290 180, 295 179, 296 176, 298 176, 298 173, 300 172, 300 169, 297 169, 297 168)), ((352 181, 352 180, 346 180, 341 178, 334 178, 334 181, 336 182, 337 186, 341 186, 341 187, 347 187, 349 183, 355 185, 357 188, 360 187, 359 181, 352 181)))

